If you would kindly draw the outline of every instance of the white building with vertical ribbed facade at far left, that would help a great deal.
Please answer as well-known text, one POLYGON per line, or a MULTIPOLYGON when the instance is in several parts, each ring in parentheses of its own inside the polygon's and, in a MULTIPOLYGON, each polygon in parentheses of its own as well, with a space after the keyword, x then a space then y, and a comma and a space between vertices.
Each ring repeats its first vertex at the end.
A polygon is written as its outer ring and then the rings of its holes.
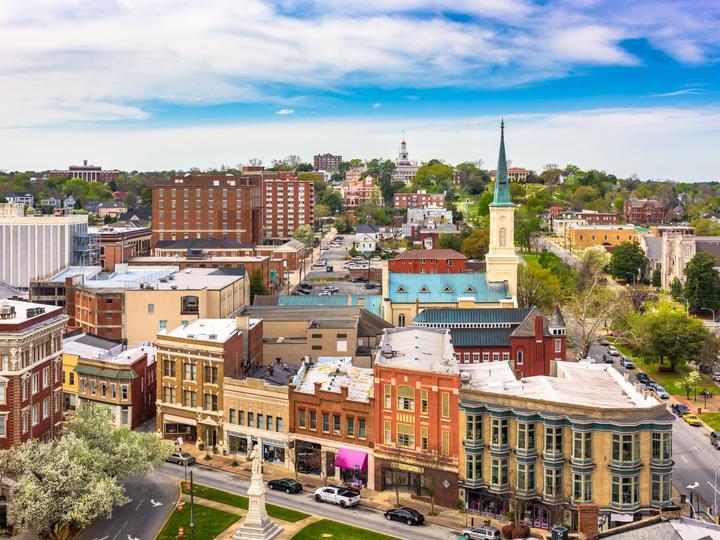
POLYGON ((0 204, 0 281, 27 288, 33 279, 87 264, 86 215, 25 216, 22 205, 0 204))

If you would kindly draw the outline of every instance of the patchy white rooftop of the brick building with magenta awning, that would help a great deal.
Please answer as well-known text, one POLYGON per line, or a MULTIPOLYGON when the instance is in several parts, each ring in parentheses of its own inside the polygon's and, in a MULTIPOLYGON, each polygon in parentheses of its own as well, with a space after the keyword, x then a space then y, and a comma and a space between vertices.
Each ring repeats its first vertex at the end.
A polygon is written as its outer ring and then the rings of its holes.
POLYGON ((317 362, 303 363, 293 379, 295 391, 314 394, 315 384, 320 390, 339 394, 342 387, 348 389, 348 399, 367 403, 374 394, 373 370, 352 365, 349 356, 318 358, 317 362))

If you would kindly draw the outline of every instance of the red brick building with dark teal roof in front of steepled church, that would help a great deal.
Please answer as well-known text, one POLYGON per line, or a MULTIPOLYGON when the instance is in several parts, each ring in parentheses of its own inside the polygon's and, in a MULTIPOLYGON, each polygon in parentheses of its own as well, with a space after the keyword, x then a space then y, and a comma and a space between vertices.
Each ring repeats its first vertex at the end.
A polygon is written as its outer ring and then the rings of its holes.
POLYGON ((518 378, 550 375, 553 360, 565 360, 565 322, 559 308, 546 316, 537 308, 423 310, 421 328, 449 329, 460 364, 509 361, 518 378))

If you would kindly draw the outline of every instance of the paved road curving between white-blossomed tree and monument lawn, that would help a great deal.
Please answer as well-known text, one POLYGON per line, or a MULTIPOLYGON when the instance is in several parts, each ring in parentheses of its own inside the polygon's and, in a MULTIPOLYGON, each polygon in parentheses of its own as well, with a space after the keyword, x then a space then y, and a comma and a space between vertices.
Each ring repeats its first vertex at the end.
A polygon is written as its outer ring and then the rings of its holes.
POLYGON ((153 540, 157 536, 165 518, 175 508, 177 481, 154 471, 144 477, 129 478, 125 489, 131 501, 115 508, 111 519, 95 521, 80 535, 81 540, 153 540))

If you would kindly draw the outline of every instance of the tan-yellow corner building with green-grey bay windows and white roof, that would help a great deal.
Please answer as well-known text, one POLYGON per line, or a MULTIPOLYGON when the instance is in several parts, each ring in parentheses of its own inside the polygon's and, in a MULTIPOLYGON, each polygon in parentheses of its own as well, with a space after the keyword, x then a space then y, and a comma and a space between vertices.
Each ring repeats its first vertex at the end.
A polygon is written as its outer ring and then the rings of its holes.
POLYGON ((533 527, 577 530, 580 505, 609 523, 671 502, 674 417, 648 390, 605 365, 556 362, 552 376, 516 381, 493 364, 461 370, 460 497, 470 512, 512 509, 533 527))

